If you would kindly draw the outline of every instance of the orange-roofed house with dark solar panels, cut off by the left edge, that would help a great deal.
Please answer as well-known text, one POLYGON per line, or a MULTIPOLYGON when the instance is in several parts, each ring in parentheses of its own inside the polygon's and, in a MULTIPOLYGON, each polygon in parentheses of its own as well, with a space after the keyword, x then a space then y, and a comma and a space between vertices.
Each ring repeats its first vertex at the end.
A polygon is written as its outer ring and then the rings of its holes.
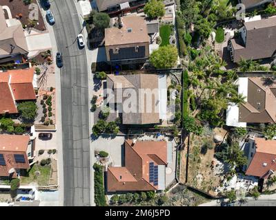
POLYGON ((28 135, 0 135, 0 177, 17 177, 20 170, 30 168, 33 147, 28 135))

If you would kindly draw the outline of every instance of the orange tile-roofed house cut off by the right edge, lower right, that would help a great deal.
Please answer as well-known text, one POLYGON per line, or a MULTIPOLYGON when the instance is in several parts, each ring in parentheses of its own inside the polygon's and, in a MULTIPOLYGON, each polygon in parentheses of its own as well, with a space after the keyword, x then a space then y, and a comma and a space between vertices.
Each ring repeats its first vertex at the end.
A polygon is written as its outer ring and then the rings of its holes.
POLYGON ((276 140, 255 137, 246 175, 268 179, 276 171, 276 140))

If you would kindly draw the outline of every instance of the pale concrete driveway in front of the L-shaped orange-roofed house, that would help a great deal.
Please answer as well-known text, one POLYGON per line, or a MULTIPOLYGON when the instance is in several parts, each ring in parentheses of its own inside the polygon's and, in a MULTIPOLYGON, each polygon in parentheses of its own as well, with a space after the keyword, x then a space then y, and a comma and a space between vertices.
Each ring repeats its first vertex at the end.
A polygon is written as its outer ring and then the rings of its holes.
POLYGON ((124 136, 102 137, 92 142, 95 151, 106 151, 109 153, 113 166, 124 166, 124 136))

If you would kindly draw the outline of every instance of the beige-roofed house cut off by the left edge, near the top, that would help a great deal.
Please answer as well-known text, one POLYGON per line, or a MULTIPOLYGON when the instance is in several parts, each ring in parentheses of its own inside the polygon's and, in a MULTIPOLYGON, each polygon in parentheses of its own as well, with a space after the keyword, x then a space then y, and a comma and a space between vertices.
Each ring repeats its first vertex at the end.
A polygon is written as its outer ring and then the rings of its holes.
POLYGON ((6 22, 3 7, 0 5, 0 63, 7 63, 18 55, 28 55, 24 30, 20 22, 15 25, 6 22))

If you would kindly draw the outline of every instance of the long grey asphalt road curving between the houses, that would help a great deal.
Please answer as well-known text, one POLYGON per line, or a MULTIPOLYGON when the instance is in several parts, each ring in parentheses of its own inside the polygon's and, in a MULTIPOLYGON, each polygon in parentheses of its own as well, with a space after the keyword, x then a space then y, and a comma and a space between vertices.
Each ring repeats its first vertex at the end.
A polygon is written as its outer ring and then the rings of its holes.
MULTIPOLYGON (((61 68, 63 206, 90 206, 88 65, 77 35, 82 25, 73 0, 51 1, 61 68)), ((62 189, 61 189, 62 190, 62 189)))

